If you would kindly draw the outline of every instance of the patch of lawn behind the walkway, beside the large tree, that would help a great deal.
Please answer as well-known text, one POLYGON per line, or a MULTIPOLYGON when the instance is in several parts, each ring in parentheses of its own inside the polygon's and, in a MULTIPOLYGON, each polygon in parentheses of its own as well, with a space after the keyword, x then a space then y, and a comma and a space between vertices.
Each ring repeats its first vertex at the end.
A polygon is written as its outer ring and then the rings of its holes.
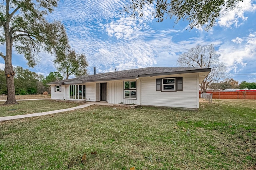
POLYGON ((4 102, 0 102, 0 117, 54 111, 80 105, 78 103, 65 103, 53 100, 32 100, 18 102, 18 105, 4 105, 4 102))

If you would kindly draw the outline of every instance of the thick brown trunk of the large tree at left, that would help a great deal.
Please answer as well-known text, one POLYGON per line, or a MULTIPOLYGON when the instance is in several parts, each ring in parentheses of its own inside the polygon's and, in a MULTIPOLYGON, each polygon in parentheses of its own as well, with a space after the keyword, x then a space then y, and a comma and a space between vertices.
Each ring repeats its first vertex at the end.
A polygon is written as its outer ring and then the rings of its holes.
POLYGON ((10 38, 6 38, 6 56, 5 56, 5 76, 7 84, 7 100, 4 104, 18 104, 15 99, 14 71, 12 67, 12 42, 10 38))

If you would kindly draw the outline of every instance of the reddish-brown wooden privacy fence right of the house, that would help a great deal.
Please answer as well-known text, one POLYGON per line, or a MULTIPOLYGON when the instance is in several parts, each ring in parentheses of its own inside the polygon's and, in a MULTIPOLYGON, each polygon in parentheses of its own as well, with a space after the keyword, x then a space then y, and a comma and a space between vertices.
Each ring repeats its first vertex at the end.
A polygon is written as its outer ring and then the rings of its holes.
POLYGON ((212 94, 212 99, 256 99, 256 91, 207 91, 207 93, 212 94))

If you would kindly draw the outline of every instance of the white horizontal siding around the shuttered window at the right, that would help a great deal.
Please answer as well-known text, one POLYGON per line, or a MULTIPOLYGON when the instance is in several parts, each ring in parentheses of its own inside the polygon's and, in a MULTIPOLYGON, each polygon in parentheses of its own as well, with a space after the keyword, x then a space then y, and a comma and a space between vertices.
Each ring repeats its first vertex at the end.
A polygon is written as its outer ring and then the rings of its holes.
POLYGON ((170 75, 142 78, 142 105, 181 107, 197 109, 198 74, 170 75), (156 79, 164 77, 183 77, 183 91, 156 91, 156 79))

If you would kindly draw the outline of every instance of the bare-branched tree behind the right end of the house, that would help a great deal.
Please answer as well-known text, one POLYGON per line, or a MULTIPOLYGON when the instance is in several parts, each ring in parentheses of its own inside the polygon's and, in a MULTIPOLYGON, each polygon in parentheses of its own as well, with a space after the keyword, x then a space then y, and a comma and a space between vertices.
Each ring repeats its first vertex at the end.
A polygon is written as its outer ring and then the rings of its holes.
POLYGON ((177 64, 181 67, 212 68, 210 74, 202 81, 201 88, 206 93, 208 85, 226 77, 226 66, 220 62, 214 45, 197 45, 186 53, 180 54, 177 64))

